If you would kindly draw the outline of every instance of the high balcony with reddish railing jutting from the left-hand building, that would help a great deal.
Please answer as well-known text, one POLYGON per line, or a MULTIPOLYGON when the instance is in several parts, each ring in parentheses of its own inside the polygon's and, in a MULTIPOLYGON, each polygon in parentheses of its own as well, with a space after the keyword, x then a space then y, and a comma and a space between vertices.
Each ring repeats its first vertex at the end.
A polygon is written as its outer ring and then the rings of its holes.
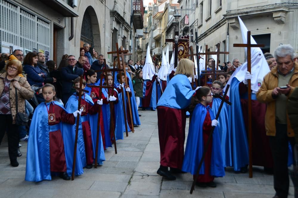
POLYGON ((133 24, 135 29, 143 29, 144 21, 144 5, 143 0, 133 0, 132 2, 133 9, 133 24))

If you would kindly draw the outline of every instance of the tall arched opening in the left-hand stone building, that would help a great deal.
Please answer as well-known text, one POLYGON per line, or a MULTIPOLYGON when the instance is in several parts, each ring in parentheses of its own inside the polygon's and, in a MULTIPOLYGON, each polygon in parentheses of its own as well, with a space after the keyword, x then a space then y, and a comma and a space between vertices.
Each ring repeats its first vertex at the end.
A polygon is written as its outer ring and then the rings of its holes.
POLYGON ((89 43, 98 53, 101 53, 100 28, 97 15, 93 7, 87 7, 82 21, 80 47, 89 43))

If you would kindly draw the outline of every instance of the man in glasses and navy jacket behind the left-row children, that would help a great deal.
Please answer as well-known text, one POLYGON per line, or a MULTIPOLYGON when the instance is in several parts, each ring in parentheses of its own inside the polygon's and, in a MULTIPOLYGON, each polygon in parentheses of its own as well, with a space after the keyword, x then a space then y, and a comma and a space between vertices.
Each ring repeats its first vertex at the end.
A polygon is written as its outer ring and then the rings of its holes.
POLYGON ((77 77, 80 77, 84 73, 83 69, 75 66, 77 63, 75 56, 69 55, 67 60, 68 66, 61 69, 61 76, 63 77, 63 80, 61 81, 62 102, 64 106, 66 105, 69 97, 75 92, 75 89, 72 88, 73 80, 75 80, 77 77))

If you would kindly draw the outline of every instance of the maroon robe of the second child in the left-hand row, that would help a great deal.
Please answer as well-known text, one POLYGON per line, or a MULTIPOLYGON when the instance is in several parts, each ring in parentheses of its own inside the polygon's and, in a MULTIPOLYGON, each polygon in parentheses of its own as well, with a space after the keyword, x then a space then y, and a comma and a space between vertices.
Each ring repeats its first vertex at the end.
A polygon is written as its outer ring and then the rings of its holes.
MULTIPOLYGON (((97 104, 97 102, 92 106, 87 101, 85 101, 83 97, 81 100, 81 107, 82 105, 85 105, 85 108, 81 114, 81 117, 87 116, 88 113, 90 115, 94 115, 98 113, 99 105, 97 104)), ((86 161, 87 161, 87 164, 93 164, 91 128, 88 120, 82 122, 82 128, 83 128, 83 137, 84 137, 84 144, 85 144, 86 161)))

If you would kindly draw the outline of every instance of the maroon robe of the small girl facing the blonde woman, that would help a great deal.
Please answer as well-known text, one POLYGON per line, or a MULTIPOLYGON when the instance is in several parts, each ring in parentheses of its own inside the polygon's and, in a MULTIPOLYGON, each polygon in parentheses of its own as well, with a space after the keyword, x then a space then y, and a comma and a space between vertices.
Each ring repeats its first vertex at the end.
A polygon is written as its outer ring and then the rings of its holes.
MULTIPOLYGON (((207 144, 208 137, 210 135, 211 130, 212 130, 211 118, 210 118, 209 111, 207 111, 207 114, 206 114, 206 117, 205 117, 205 120, 203 123, 204 148, 207 144)), ((208 145, 208 149, 207 149, 205 159, 204 159, 205 173, 204 173, 204 175, 199 175, 197 182, 211 182, 214 180, 214 177, 210 175, 211 156, 212 156, 212 138, 208 145)), ((193 177, 195 179, 195 175, 193 177)))

